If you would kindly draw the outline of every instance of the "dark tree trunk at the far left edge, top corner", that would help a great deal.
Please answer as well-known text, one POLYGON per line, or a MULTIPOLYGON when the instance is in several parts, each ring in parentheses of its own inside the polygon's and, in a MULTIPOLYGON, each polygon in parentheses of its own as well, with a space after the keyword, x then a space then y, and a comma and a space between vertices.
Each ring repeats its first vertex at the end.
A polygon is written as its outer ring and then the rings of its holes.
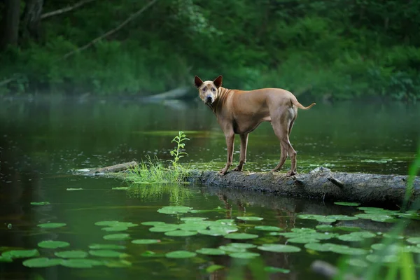
POLYGON ((20 0, 4 0, 3 16, 0 22, 0 48, 17 45, 19 38, 20 0))

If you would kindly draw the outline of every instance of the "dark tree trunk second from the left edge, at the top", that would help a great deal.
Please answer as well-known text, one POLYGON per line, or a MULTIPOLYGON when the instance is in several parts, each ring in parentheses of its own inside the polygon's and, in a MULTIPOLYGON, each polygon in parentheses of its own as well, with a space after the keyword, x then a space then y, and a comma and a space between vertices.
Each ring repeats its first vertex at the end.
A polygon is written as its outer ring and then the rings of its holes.
POLYGON ((22 18, 22 38, 40 38, 43 0, 28 0, 22 18))

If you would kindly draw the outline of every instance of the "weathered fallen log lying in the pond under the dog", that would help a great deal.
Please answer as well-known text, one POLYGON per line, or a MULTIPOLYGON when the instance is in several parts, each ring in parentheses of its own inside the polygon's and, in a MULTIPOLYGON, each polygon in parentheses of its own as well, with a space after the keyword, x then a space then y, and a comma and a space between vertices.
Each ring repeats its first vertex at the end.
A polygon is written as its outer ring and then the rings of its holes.
MULTIPOLYGON (((137 162, 127 162, 88 171, 82 169, 85 172, 78 172, 78 175, 123 176, 118 172, 136 165, 137 162)), ((191 170, 186 178, 190 183, 249 189, 286 197, 393 206, 402 206, 407 180, 408 176, 402 175, 332 172, 324 167, 290 177, 278 172, 229 172, 221 176, 218 172, 191 170)), ((416 176, 409 200, 414 202, 419 198, 420 177, 416 176)))

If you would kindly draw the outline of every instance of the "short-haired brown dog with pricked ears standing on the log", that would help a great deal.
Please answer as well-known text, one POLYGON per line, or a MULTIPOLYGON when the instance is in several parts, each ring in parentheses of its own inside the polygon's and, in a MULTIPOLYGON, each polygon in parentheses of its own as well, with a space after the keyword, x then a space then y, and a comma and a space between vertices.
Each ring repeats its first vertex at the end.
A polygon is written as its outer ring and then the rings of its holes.
POLYGON ((271 122, 274 133, 280 140, 281 148, 280 162, 272 171, 281 169, 289 155, 292 166, 287 172, 287 176, 296 174, 296 151, 290 144, 289 135, 297 118, 297 108, 307 110, 315 103, 304 107, 297 102, 291 92, 279 88, 250 91, 228 90, 222 87, 222 78, 222 76, 218 76, 213 81, 206 80, 205 82, 197 76, 194 79, 200 98, 215 113, 217 121, 225 133, 228 162, 219 173, 226 174, 229 167, 232 166, 235 134, 239 134, 241 137, 241 154, 239 165, 233 170, 242 170, 246 162, 248 133, 255 130, 263 121, 267 121, 271 122))

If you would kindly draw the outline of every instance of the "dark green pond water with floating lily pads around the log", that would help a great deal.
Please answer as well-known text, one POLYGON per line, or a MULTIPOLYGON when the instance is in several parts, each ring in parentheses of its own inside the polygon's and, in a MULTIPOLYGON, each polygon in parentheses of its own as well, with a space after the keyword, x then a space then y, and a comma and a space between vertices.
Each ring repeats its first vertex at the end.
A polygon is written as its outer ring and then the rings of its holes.
MULTIPOLYGON (((3 99, 0 108, 0 279, 323 279, 311 272, 311 262, 337 265, 346 255, 353 272, 365 269, 377 262, 375 250, 382 246, 371 245, 401 220, 407 228, 400 247, 420 264, 415 212, 71 174, 146 155, 170 160, 179 130, 190 138, 181 162, 220 169, 224 137, 200 102, 3 99), (130 188, 113 189, 119 187, 130 188), (151 221, 160 223, 142 224, 151 221)), ((297 170, 322 165, 339 172, 407 174, 419 120, 420 106, 317 104, 299 112, 290 137, 297 170)), ((279 143, 264 123, 250 134, 245 168, 267 171, 278 160, 279 143)), ((281 172, 289 167, 287 161, 281 172)), ((386 261, 395 257, 388 255, 386 261)))

